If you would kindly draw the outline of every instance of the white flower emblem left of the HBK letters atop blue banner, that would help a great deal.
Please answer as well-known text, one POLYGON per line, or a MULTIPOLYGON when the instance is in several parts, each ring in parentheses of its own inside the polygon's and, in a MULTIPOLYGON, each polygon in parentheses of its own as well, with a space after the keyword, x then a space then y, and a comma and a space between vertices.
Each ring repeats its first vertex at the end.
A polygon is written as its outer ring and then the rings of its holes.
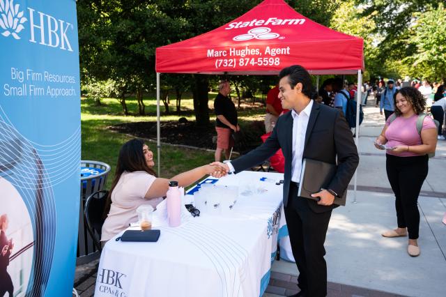
POLYGON ((5 2, 0 0, 0 27, 5 30, 1 35, 5 37, 12 35, 13 38, 20 39, 17 34, 24 29, 22 24, 27 20, 23 16, 23 11, 19 12, 19 8, 19 4, 14 5, 14 0, 5 2))

